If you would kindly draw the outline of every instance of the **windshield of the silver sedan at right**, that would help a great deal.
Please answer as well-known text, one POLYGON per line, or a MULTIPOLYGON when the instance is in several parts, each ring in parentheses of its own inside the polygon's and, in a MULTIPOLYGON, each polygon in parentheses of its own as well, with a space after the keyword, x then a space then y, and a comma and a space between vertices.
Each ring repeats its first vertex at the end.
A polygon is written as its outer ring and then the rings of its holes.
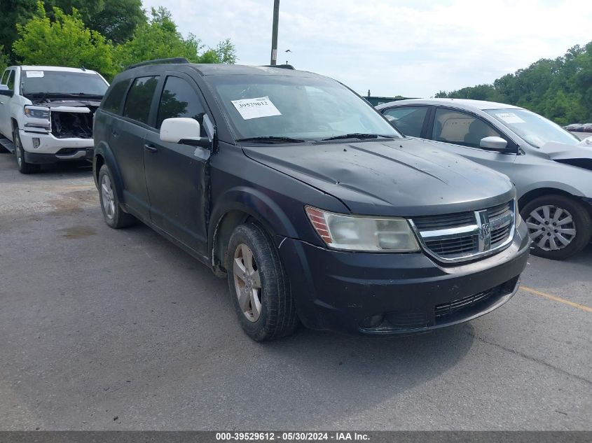
POLYGON ((488 109, 486 113, 499 120, 502 125, 509 127, 535 148, 540 148, 550 141, 567 145, 579 143, 579 139, 563 127, 525 109, 488 109))

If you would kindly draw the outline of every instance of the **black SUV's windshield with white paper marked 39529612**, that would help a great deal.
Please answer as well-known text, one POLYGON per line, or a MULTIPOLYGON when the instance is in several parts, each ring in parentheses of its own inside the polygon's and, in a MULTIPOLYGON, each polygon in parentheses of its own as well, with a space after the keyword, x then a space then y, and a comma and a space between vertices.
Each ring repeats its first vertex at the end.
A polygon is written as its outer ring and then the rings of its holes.
POLYGON ((234 75, 207 81, 219 95, 238 140, 401 136, 366 101, 328 78, 234 75))

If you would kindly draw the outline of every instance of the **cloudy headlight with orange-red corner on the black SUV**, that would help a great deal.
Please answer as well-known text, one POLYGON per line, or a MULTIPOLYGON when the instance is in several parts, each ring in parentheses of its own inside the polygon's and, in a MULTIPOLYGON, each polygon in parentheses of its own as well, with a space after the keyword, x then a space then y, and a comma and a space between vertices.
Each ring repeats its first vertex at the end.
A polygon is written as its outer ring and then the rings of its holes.
POLYGON ((305 206, 327 246, 345 251, 416 252, 418 241, 404 218, 346 216, 305 206))

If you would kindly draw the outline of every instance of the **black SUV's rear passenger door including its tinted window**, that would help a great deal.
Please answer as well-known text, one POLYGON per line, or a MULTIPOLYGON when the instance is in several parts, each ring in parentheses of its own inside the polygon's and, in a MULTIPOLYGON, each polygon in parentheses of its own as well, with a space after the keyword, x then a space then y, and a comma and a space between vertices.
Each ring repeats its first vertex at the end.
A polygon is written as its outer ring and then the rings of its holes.
POLYGON ((150 217, 144 176, 144 139, 149 131, 151 105, 160 76, 132 81, 123 105, 122 118, 113 119, 111 147, 123 180, 123 199, 140 216, 150 217))

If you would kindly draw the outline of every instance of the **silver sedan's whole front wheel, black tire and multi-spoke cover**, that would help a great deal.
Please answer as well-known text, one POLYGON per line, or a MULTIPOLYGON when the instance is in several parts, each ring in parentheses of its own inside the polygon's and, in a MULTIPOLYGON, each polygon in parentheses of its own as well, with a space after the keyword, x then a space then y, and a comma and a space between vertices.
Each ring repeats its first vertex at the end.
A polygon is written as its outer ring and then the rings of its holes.
POLYGON ((584 249, 592 237, 592 218, 577 199, 552 194, 537 197, 520 211, 532 239, 532 254, 565 260, 584 249))

